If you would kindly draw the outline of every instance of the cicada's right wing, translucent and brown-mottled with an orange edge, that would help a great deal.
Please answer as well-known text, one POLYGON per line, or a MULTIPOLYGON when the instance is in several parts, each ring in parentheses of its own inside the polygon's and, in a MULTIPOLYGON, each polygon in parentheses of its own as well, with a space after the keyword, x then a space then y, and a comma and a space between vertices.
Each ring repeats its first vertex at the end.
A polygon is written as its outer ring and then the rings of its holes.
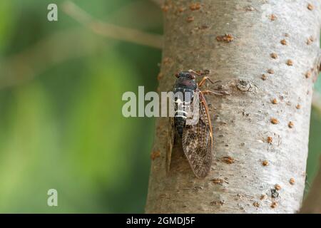
POLYGON ((186 125, 183 130, 182 145, 185 156, 196 177, 206 177, 212 163, 212 125, 208 105, 200 93, 200 113, 198 123, 186 125))

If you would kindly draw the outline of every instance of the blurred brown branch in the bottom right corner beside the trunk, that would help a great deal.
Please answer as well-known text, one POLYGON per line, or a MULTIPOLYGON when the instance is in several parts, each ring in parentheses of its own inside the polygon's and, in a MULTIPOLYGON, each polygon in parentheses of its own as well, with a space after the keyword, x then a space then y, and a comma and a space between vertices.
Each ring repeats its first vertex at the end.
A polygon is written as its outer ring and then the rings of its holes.
MULTIPOLYGON (((321 167, 321 157, 320 157, 320 167, 321 167)), ((321 214, 321 168, 319 168, 319 173, 315 177, 312 184, 312 188, 307 195, 307 198, 303 202, 300 213, 313 213, 321 214)))

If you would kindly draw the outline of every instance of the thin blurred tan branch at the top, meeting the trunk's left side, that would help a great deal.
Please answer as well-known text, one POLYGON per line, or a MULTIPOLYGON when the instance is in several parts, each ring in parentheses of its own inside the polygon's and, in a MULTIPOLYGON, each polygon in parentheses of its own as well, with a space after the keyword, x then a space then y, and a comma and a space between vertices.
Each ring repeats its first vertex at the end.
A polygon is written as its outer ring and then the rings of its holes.
POLYGON ((71 1, 65 1, 62 10, 80 24, 83 24, 83 26, 90 28, 91 31, 101 36, 151 46, 153 48, 162 48, 163 46, 163 36, 161 35, 146 33, 133 28, 123 28, 93 19, 91 15, 87 14, 86 11, 83 11, 83 9, 71 1))

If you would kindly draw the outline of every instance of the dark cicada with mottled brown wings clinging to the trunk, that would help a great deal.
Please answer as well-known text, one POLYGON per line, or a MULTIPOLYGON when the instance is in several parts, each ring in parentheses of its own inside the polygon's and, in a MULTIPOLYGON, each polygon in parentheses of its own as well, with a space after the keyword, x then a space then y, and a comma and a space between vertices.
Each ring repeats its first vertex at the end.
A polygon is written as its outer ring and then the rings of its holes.
POLYGON ((173 93, 181 93, 183 96, 175 96, 175 100, 173 100, 175 113, 170 118, 168 126, 167 170, 170 170, 173 145, 179 142, 182 143, 183 152, 195 176, 206 177, 210 172, 213 157, 213 128, 204 95, 207 93, 223 94, 210 90, 201 91, 200 87, 205 81, 210 81, 210 83, 213 81, 205 76, 200 83, 197 83, 195 76, 200 76, 200 74, 195 71, 182 71, 175 76, 177 79, 173 93), (195 124, 187 125, 187 120, 190 118, 188 113, 193 111, 195 106, 193 105, 195 104, 195 95, 198 95, 198 121, 195 124))

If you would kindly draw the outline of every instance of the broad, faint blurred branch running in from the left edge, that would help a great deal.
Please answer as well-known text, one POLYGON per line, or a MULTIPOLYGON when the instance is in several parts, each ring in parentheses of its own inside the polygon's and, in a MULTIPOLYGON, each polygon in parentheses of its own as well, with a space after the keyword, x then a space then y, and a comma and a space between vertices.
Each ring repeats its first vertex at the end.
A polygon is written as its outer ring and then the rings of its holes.
MULTIPOLYGON (((104 44, 106 46, 106 44, 104 44)), ((30 81, 59 63, 101 50, 102 42, 83 29, 51 34, 26 50, 0 62, 0 89, 30 81), (88 40, 94 39, 94 42, 88 40)))

